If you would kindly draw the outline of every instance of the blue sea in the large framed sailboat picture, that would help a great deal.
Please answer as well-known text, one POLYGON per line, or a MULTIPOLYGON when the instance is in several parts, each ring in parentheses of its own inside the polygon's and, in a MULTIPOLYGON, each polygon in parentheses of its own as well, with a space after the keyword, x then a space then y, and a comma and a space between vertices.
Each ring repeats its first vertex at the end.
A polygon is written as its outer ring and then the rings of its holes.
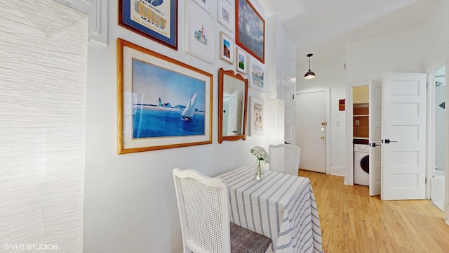
POLYGON ((135 109, 133 138, 204 135, 204 113, 196 112, 191 122, 183 121, 181 111, 135 109))

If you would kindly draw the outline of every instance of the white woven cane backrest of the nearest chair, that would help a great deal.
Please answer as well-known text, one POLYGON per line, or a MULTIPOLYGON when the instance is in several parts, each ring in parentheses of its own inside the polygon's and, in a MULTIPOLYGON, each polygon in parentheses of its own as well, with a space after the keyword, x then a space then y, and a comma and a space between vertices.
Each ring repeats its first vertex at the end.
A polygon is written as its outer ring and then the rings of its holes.
POLYGON ((184 252, 231 252, 229 195, 222 179, 173 169, 184 252))

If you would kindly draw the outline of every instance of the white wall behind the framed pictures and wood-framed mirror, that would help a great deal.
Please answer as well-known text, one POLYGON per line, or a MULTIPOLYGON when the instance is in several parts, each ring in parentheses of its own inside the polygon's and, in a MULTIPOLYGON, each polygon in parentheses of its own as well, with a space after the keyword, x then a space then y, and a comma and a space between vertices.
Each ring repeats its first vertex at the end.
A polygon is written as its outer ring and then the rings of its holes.
MULTIPOLYGON (((211 15, 217 20, 215 1, 211 15)), ((262 10, 258 11, 263 15, 262 10)), ((84 252, 181 252, 180 221, 175 200, 172 169, 197 169, 209 176, 245 165, 253 165, 250 148, 267 147, 264 136, 246 141, 217 143, 218 69, 235 70, 217 56, 220 31, 234 38, 215 22, 215 60, 210 65, 185 53, 185 1, 178 1, 178 50, 116 25, 117 1, 109 2, 108 45, 88 45, 87 155, 84 209, 84 252), (116 154, 117 72, 116 38, 149 48, 213 74, 213 143, 188 148, 155 150, 128 155, 116 154)), ((269 20, 266 20, 267 22, 269 20)), ((269 25, 266 23, 266 25, 269 25)), ((265 38, 270 37, 267 30, 265 38)), ((279 38, 288 41, 289 38, 279 38)), ((288 42, 291 43, 291 42, 288 42)), ((282 45, 281 45, 282 46, 282 45)), ((268 78, 272 73, 270 48, 266 48, 268 78)), ((294 54, 293 54, 294 55, 294 54)), ((272 56, 275 57, 275 56, 272 56)), ((281 59, 279 59, 281 61, 281 59)), ((258 98, 276 97, 274 82, 267 93, 250 91, 258 98)))

